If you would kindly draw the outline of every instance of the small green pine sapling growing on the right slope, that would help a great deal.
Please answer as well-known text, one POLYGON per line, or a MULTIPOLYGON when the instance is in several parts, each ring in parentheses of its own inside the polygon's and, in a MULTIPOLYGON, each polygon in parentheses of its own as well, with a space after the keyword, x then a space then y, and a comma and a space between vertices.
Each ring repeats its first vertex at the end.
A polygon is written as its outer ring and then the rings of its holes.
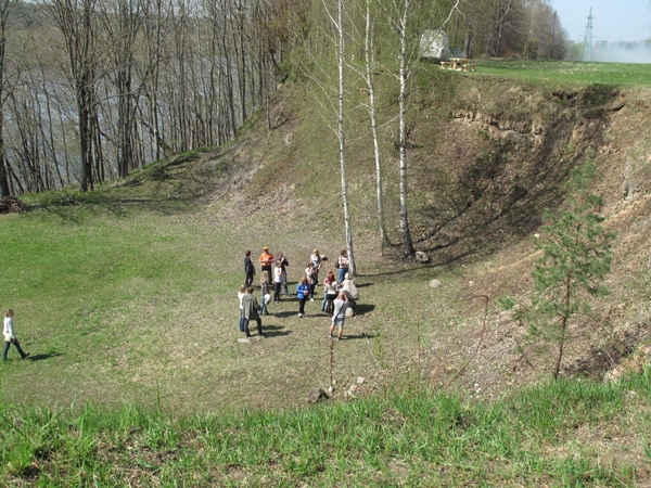
MULTIPOLYGON (((587 158, 572 171, 567 208, 559 215, 545 213, 548 223, 541 228, 542 235, 534 241, 542 256, 532 271, 531 307, 519 307, 514 317, 528 324, 533 338, 558 345, 554 378, 559 377, 563 347, 570 338, 571 318, 588 313, 591 299, 609 293, 603 279, 611 271, 615 234, 603 230, 603 218, 597 214, 602 200, 588 191, 595 172, 595 164, 587 158)), ((516 300, 506 297, 499 303, 503 309, 511 309, 516 300)))

